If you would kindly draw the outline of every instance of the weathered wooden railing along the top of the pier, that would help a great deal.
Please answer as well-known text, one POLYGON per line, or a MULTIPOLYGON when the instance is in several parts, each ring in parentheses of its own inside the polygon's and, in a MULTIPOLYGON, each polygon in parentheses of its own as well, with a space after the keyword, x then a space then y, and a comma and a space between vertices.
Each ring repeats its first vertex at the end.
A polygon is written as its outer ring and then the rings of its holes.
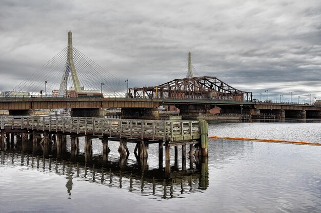
POLYGON ((199 121, 119 120, 98 117, 1 116, 1 129, 180 141, 200 138, 199 121))

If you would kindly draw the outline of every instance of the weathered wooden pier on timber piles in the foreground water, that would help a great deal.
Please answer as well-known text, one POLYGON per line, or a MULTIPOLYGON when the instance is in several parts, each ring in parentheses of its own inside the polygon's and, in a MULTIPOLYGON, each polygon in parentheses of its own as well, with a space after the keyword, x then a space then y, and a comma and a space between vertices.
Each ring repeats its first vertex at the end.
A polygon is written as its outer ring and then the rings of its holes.
POLYGON ((67 116, 1 116, 1 148, 5 140, 44 146, 56 143, 57 152, 66 144, 66 136, 71 139, 72 151, 79 145, 78 137, 85 137, 85 152, 91 150, 92 138, 99 138, 103 144, 103 154, 110 151, 108 141, 119 141, 118 152, 121 157, 128 156, 127 143, 136 143, 135 155, 147 160, 150 144, 158 144, 159 162, 163 164, 165 146, 166 170, 170 172, 170 149, 182 146, 182 160, 186 164, 186 145, 190 147, 190 158, 208 155, 208 132, 205 121, 158 121, 158 120, 119 120, 94 117, 67 116), (29 135, 29 137, 28 137, 29 135))

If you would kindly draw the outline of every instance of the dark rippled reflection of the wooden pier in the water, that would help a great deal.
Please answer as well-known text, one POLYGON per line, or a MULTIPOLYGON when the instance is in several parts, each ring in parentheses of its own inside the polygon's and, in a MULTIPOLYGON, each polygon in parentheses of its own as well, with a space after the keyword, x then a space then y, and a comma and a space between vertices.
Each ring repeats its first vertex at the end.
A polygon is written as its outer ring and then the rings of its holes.
POLYGON ((68 152, 67 149, 63 149, 58 153, 55 144, 35 146, 30 141, 12 142, 7 141, 5 150, 1 152, 1 164, 65 175, 69 198, 75 179, 163 199, 202 192, 209 185, 208 157, 204 156, 190 159, 188 168, 178 168, 178 158, 175 157, 171 172, 168 173, 161 162, 158 168, 149 169, 147 160, 138 156, 135 161, 129 160, 128 156, 119 158, 79 150, 68 152))

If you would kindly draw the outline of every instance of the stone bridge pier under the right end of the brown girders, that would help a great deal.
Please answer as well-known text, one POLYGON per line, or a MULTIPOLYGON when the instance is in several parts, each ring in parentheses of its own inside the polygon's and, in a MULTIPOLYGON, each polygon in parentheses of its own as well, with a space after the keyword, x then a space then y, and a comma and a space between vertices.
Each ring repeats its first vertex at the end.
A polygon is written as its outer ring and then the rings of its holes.
POLYGON ((159 120, 157 108, 122 108, 122 119, 159 120))

